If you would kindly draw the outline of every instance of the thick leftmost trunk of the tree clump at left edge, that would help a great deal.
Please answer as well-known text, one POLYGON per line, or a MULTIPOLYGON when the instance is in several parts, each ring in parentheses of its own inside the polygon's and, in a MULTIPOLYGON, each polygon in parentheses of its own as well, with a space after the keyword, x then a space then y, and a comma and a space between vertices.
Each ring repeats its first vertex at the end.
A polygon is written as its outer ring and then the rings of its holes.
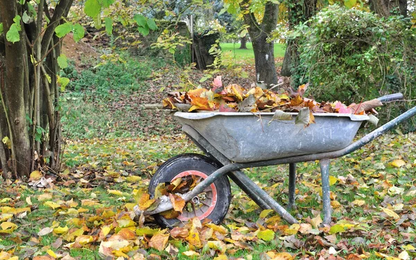
MULTIPOLYGON (((1 20, 4 31, 7 32, 14 23, 17 15, 17 1, 0 0, 1 20)), ((23 28, 22 28, 23 29, 23 28)), ((14 150, 13 163, 17 175, 28 176, 31 165, 31 142, 28 135, 28 124, 24 107, 24 71, 26 39, 24 30, 19 33, 20 40, 14 44, 6 41, 6 86, 5 99, 9 109, 10 137, 14 150)))

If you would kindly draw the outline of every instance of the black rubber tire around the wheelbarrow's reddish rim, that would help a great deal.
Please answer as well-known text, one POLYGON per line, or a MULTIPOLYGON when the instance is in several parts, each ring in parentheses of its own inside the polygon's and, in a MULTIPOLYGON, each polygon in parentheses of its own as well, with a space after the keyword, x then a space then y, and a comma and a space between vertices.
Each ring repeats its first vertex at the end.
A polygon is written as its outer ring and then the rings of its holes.
MULTIPOLYGON (((220 168, 217 162, 206 157, 204 155, 199 155, 196 153, 186 153, 183 155, 177 155, 168 159, 168 161, 164 162, 156 171, 155 175, 153 175, 152 179, 150 180, 149 184, 149 194, 150 197, 153 198, 155 194, 155 189, 157 185, 161 182, 171 182, 173 177, 182 173, 183 171, 201 171, 206 175, 211 175, 214 173, 218 168, 220 168)), ((227 215, 229 204, 231 202, 231 187, 229 185, 229 180, 227 175, 223 175, 219 177, 215 182, 214 185, 217 190, 217 203, 214 207, 214 210, 209 214, 206 218, 211 220, 214 224, 219 224, 227 215)), ((182 221, 178 220, 177 218, 173 219, 166 219, 159 214, 153 215, 156 222, 162 227, 169 227, 173 228, 179 225, 182 225, 182 221)))

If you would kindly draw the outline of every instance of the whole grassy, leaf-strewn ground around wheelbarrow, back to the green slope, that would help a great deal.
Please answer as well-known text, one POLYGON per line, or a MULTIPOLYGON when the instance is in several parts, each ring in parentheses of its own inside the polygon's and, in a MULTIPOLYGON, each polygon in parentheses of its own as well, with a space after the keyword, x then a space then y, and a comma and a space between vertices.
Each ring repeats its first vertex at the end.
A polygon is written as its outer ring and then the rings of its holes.
MULTIPOLYGON (((300 225, 261 211, 232 184, 222 225, 160 229, 152 217, 134 218, 132 207, 146 202, 143 192, 160 164, 199 151, 170 114, 139 105, 157 103, 187 74, 196 82, 202 74, 150 59, 65 73, 76 75, 62 99, 64 168, 34 173, 30 183, 0 182, 0 260, 416 257, 414 133, 393 131, 331 162, 331 225, 319 225, 319 164, 309 162, 297 164, 291 214, 300 225)), ((245 173, 286 205, 287 166, 245 173)))

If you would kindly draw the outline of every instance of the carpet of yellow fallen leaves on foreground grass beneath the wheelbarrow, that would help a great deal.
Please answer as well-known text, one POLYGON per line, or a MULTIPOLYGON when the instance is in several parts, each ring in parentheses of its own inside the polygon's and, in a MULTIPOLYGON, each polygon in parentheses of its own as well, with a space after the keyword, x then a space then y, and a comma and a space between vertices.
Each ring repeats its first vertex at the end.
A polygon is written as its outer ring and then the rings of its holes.
MULTIPOLYGON (((80 249, 103 259, 413 259, 415 137, 385 135, 333 160, 331 225, 320 227, 318 165, 300 164, 293 211, 300 224, 261 211, 233 189, 222 225, 191 218, 171 230, 157 227, 151 216, 138 219, 132 208, 137 202, 155 207, 157 198, 150 199, 147 186, 158 164, 173 153, 195 151, 183 135, 72 141, 65 156, 80 162, 76 167, 59 175, 32 175, 31 182, 50 178, 53 186, 1 183, 0 259, 79 259, 73 252, 80 249)), ((275 171, 287 169, 254 168, 248 174, 286 205, 286 181, 275 171)), ((197 183, 173 181, 166 193, 159 187, 159 196, 168 194, 177 211, 187 210, 175 193, 197 183)))

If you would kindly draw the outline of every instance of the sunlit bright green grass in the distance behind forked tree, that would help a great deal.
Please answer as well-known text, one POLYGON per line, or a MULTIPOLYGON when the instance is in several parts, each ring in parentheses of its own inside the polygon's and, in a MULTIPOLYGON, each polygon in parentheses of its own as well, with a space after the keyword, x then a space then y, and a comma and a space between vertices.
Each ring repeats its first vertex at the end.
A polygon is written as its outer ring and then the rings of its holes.
MULTIPOLYGON (((247 49, 239 49, 239 43, 222 43, 220 46, 225 58, 233 59, 236 63, 246 62, 254 64, 254 51, 251 42, 247 43, 247 49)), ((286 44, 275 43, 275 58, 283 58, 285 50, 286 44)))

